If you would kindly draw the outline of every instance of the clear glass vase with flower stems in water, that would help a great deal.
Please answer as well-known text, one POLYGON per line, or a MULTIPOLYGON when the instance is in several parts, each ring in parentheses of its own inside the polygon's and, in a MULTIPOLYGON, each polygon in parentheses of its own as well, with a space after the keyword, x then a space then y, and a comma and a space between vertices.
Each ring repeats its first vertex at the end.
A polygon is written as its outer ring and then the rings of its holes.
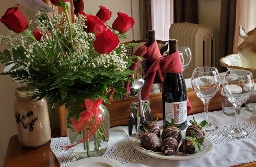
MULTIPOLYGON (((104 117, 100 127, 88 140, 72 147, 73 152, 78 159, 102 156, 102 154, 107 150, 110 130, 110 116, 106 106, 100 104, 99 109, 104 117)), ((67 114, 67 125, 68 119, 70 119, 69 114, 67 114)), ((86 129, 84 132, 79 133, 75 132, 72 126, 67 126, 67 136, 70 144, 74 145, 81 141, 85 137, 88 130, 89 129, 86 129)))

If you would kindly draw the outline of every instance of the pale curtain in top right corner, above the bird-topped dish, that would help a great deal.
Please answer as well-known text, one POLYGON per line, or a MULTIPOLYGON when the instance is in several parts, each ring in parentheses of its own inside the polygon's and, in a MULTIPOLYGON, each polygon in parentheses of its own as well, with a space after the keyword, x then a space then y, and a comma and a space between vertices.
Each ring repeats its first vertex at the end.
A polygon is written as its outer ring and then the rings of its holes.
POLYGON ((236 7, 236 29, 234 38, 234 53, 237 53, 237 47, 242 43, 243 39, 239 37, 238 26, 242 25, 246 32, 252 30, 256 26, 256 1, 255 0, 237 0, 236 7))

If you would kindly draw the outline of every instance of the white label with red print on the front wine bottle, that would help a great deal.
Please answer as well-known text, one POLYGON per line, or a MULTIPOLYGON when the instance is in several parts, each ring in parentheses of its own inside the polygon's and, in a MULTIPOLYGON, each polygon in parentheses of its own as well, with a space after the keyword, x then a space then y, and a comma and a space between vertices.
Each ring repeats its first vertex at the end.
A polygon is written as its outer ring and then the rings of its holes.
POLYGON ((171 122, 174 119, 175 124, 181 124, 187 120, 187 100, 174 103, 165 103, 165 120, 171 122))

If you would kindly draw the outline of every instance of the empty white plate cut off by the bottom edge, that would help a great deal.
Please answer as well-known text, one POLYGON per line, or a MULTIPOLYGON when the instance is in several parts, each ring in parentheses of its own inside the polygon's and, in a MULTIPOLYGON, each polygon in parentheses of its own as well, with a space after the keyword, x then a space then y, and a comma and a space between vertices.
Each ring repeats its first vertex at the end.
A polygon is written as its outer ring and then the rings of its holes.
POLYGON ((117 160, 107 157, 90 157, 82 160, 78 160, 68 167, 123 167, 123 165, 117 160))

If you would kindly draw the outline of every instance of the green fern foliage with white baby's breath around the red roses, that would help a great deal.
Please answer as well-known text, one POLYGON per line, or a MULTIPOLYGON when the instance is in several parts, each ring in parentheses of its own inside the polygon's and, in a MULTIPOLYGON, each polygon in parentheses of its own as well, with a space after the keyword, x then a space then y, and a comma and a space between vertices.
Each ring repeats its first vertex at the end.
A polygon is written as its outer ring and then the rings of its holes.
MULTIPOLYGON (((111 91, 113 99, 126 93, 124 83, 133 74, 129 67, 138 57, 125 56, 126 46, 122 44, 110 54, 96 53, 95 34, 84 31, 85 18, 75 17, 75 20, 70 25, 65 15, 57 15, 49 21, 47 14, 39 11, 36 23, 43 32, 40 41, 29 30, 26 34, 0 37, 1 44, 5 41, 9 45, 0 52, 0 63, 13 65, 0 75, 26 82, 29 89, 36 90, 33 99, 48 97, 50 106, 56 102, 65 104, 69 116, 78 118, 85 99, 101 98, 110 103, 111 91)), ((120 33, 119 38, 126 38, 126 34, 120 33)))

